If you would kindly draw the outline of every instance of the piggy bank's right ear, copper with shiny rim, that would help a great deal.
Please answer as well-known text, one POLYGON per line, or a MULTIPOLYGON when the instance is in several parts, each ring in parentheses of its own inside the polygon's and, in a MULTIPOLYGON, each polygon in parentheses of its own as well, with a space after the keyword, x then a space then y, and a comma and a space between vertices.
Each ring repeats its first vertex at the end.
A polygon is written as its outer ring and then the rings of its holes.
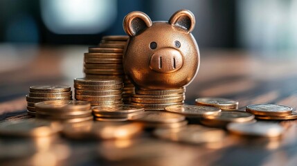
POLYGON ((172 26, 183 28, 187 33, 191 33, 195 27, 195 16, 189 10, 179 10, 174 12, 168 22, 172 26))

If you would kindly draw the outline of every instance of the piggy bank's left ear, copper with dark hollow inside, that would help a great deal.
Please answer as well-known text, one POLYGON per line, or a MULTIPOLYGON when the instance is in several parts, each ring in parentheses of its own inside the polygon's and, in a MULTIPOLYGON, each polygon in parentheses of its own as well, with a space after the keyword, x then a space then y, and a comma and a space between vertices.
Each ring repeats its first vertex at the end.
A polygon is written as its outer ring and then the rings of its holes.
POLYGON ((129 36, 138 35, 150 26, 152 26, 152 20, 143 12, 130 12, 123 21, 123 28, 129 36))

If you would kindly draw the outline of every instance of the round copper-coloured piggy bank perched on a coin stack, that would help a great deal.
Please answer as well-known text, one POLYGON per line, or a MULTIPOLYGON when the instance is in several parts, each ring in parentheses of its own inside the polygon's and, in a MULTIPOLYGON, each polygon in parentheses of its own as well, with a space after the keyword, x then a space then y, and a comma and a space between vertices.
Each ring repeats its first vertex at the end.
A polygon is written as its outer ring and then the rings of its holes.
POLYGON ((191 32, 195 16, 175 12, 169 21, 154 21, 143 12, 130 12, 123 21, 129 40, 123 67, 138 89, 179 89, 189 84, 199 68, 199 48, 191 32))

